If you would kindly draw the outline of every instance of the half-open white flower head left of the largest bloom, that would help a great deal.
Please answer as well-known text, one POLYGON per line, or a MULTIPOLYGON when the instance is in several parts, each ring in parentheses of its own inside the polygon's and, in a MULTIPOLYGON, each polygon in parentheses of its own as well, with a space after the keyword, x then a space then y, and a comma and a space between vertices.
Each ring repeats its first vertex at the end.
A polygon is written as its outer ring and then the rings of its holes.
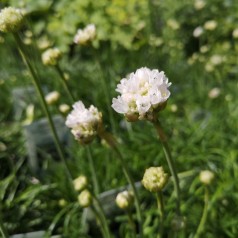
POLYGON ((66 126, 71 128, 75 139, 82 144, 92 142, 102 123, 102 113, 94 106, 85 108, 81 101, 73 105, 73 111, 67 116, 66 126))

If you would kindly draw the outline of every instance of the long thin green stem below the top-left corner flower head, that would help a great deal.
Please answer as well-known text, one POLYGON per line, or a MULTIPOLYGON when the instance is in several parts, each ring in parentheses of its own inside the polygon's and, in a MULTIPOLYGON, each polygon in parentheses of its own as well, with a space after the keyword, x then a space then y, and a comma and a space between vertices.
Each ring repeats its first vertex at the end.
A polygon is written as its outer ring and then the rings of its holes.
POLYGON ((49 109, 48 109, 48 106, 47 106, 47 103, 45 101, 44 93, 43 93, 42 88, 40 86, 40 82, 39 82, 38 76, 37 76, 33 66, 31 65, 31 62, 28 59, 27 54, 25 53, 24 45, 23 45, 23 43, 21 41, 21 38, 19 37, 18 33, 14 33, 13 35, 14 35, 16 43, 17 43, 17 45, 19 47, 19 51, 21 52, 22 58, 23 58, 24 62, 26 63, 29 71, 31 72, 32 79, 33 79, 32 81, 33 81, 35 89, 36 89, 36 91, 37 91, 37 93, 39 95, 42 108, 43 108, 43 110, 45 112, 45 115, 46 115, 46 117, 48 119, 51 131, 52 131, 52 134, 53 134, 53 139, 54 139, 54 142, 55 142, 55 146, 56 146, 57 152, 58 152, 58 154, 60 156, 61 161, 63 162, 63 165, 64 165, 64 167, 66 169, 67 174, 72 178, 72 176, 71 176, 71 174, 69 172, 69 169, 67 167, 66 160, 65 160, 65 157, 64 157, 63 148, 61 146, 59 137, 58 137, 57 132, 56 132, 56 128, 54 126, 52 117, 50 115, 50 112, 49 112, 49 109))

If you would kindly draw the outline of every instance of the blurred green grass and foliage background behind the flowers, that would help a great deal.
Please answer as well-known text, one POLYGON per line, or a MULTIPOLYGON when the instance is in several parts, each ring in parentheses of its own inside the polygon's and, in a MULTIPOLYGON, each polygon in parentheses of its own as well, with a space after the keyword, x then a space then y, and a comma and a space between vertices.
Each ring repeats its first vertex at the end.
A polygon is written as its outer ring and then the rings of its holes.
MULTIPOLYGON (((69 104, 58 75, 41 64, 49 47, 63 52, 60 62, 73 95, 103 112, 108 130, 116 133, 134 179, 142 179, 150 166, 166 163, 153 128, 141 121, 127 123, 111 109, 119 80, 147 66, 165 71, 172 82, 171 98, 161 113, 172 155, 179 172, 192 171, 181 182, 186 228, 179 237, 193 237, 203 209, 203 187, 198 173, 209 169, 215 180, 205 237, 238 237, 238 3, 236 0, 5 0, 0 7, 26 11, 21 31, 41 83, 48 92, 58 91, 59 101, 69 104), (78 28, 94 23, 92 45, 73 43, 78 28)), ((10 234, 48 230, 63 237, 87 237, 63 168, 51 153, 41 155, 33 173, 27 163, 23 127, 43 118, 38 100, 31 99, 17 113, 13 90, 31 86, 11 35, 0 34, 0 211, 10 234), (29 119, 27 108, 34 113, 29 119), (28 120, 29 119, 29 120, 28 120), (79 228, 80 227, 80 228, 79 228)), ((29 96, 30 97, 30 96, 29 96)), ((31 95, 34 98, 34 94, 31 95)), ((65 147, 73 177, 90 176, 87 151, 71 141, 65 147)), ((126 184, 114 154, 99 140, 91 145, 100 181, 100 192, 126 184)), ((167 169, 167 168, 166 168, 167 169)), ((167 229, 174 200, 168 187, 167 229)), ((147 194, 148 195, 148 194, 147 194)), ((155 204, 143 202, 147 237, 155 237, 158 220, 155 204)), ((118 218, 124 219, 122 218, 118 218)), ((127 237, 126 225, 120 237, 127 237)), ((92 236, 93 237, 93 236, 92 236)), ((128 236, 129 237, 129 236, 128 236)))

